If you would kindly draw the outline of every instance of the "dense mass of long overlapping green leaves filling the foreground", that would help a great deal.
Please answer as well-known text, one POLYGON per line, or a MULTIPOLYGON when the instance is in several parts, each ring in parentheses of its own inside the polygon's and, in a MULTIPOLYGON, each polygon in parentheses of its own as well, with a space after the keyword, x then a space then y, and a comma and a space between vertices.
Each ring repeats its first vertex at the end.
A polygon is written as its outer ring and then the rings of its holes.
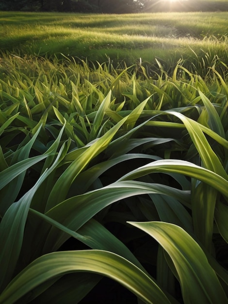
POLYGON ((1 94, 0 303, 56 303, 60 290, 58 301, 71 303, 72 292, 79 302, 102 276, 144 303, 228 302, 221 254, 228 241, 227 105, 215 104, 220 97, 212 103, 208 89, 201 92, 205 83, 197 78, 194 87, 191 76, 185 98, 191 106, 172 110, 171 88, 182 85, 177 75, 160 78, 139 102, 140 85, 135 77, 130 84, 127 70, 106 85, 85 82, 87 95, 78 90, 80 78, 65 81, 72 100, 63 85, 62 95, 43 86, 47 102, 37 83, 37 105, 32 95, 20 99, 20 90, 6 107, 9 88, 1 94), (119 102, 110 88, 118 94, 121 85, 119 102), (15 113, 18 106, 22 114, 15 113), (33 120, 41 109, 42 118, 33 120), (121 225, 121 234, 113 223, 121 225), (157 241, 153 255, 146 246, 151 236, 157 241), (67 242, 70 248, 63 251, 67 242), (148 264, 156 266, 157 280, 148 264), (69 273, 75 290, 67 284, 69 273))

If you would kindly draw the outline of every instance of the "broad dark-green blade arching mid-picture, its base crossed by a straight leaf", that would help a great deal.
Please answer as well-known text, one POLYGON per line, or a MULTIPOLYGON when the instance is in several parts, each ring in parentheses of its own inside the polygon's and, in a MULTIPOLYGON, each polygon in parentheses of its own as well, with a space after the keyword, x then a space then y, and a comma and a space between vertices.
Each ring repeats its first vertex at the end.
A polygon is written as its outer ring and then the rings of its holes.
MULTIPOLYGON (((77 231, 104 207, 124 198, 151 193, 170 195, 180 202, 190 202, 189 191, 160 184, 125 181, 70 198, 50 209, 46 215, 69 229, 77 231)), ((40 233, 44 236, 47 232, 41 232, 40 228, 40 233)), ((64 233, 51 228, 49 235, 46 236, 43 253, 58 250, 67 238, 68 236, 66 237, 64 233)))

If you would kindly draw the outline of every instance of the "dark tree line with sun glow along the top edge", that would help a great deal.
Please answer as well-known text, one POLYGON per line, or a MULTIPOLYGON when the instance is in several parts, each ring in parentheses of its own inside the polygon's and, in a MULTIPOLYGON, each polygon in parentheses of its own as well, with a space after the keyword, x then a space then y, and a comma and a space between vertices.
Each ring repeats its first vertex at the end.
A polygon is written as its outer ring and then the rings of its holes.
POLYGON ((227 1, 207 0, 1 0, 2 11, 137 13, 228 11, 227 1))

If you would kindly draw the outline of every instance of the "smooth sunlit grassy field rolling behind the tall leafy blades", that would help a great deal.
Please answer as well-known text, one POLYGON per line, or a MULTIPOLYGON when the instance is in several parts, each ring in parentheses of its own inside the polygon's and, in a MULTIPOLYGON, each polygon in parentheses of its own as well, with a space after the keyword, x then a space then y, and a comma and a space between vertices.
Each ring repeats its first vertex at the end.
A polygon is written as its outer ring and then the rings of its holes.
POLYGON ((182 57, 216 54, 227 62, 228 13, 78 15, 9 13, 0 16, 2 51, 66 56, 103 62, 155 62, 175 65, 182 57), (193 52, 194 51, 194 52, 193 52))

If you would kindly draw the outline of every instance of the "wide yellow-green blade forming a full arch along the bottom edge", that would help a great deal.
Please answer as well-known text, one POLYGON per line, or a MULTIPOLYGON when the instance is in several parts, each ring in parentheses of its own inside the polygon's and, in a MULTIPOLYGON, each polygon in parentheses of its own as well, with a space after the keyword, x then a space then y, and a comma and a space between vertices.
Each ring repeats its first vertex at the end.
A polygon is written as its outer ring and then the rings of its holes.
POLYGON ((100 250, 56 252, 43 255, 22 270, 0 295, 0 304, 12 304, 40 284, 66 273, 94 272, 128 288, 147 304, 170 304, 146 273, 123 257, 100 250))

